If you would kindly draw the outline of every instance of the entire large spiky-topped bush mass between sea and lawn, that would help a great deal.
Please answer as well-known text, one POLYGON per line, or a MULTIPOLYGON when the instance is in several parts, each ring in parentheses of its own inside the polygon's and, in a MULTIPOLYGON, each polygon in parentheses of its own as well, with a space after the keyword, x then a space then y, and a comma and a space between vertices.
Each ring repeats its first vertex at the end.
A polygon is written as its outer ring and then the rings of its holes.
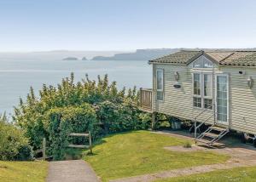
POLYGON ((118 90, 116 82, 108 82, 107 75, 98 77, 97 82, 86 75, 82 82, 74 83, 72 73, 57 87, 43 85, 38 98, 31 88, 26 101, 20 99, 15 107, 13 119, 25 131, 34 150, 41 148, 45 137, 48 152, 59 160, 64 156, 70 132, 91 130, 96 138, 108 132, 148 128, 147 117, 137 104, 136 88, 118 90))

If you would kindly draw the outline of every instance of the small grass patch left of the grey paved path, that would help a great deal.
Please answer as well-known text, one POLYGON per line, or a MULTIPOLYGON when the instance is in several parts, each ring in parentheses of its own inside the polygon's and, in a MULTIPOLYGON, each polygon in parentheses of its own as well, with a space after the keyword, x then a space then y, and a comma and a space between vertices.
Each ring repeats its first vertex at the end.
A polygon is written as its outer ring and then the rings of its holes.
POLYGON ((44 181, 48 162, 3 162, 0 161, 0 181, 44 181))

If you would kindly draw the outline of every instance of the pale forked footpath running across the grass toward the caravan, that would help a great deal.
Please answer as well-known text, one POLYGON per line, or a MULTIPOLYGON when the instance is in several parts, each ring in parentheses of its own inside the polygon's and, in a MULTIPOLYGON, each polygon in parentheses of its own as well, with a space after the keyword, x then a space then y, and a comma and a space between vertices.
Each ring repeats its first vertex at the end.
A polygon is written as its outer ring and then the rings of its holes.
POLYGON ((245 148, 224 148, 224 149, 209 149, 197 145, 192 145, 191 148, 185 148, 183 146, 166 146, 164 147, 168 151, 179 152, 192 152, 192 151, 213 151, 219 154, 229 155, 231 158, 224 163, 217 163, 212 165, 202 165, 191 168, 179 168, 170 171, 162 171, 159 173, 148 173, 144 175, 115 179, 111 182, 149 182, 156 179, 167 179, 178 176, 186 176, 195 173, 207 173, 218 169, 230 169, 237 167, 252 167, 256 166, 256 151, 248 150, 245 148))

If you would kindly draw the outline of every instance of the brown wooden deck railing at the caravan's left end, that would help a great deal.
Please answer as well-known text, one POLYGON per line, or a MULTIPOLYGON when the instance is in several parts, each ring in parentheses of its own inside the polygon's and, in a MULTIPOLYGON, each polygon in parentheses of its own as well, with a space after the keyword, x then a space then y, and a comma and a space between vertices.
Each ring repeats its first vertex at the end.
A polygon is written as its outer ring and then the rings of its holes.
POLYGON ((140 106, 143 110, 152 110, 152 89, 141 88, 140 89, 140 106))

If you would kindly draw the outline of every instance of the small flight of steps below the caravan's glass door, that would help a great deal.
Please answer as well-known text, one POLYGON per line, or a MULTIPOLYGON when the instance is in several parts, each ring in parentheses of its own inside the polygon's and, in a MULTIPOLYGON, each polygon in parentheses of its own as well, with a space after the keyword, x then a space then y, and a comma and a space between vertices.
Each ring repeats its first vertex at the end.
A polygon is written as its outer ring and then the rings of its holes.
POLYGON ((215 142, 224 137, 225 134, 228 134, 229 131, 229 128, 224 128, 213 124, 211 127, 207 128, 205 132, 201 133, 195 138, 195 143, 203 143, 209 147, 212 147, 215 142))

